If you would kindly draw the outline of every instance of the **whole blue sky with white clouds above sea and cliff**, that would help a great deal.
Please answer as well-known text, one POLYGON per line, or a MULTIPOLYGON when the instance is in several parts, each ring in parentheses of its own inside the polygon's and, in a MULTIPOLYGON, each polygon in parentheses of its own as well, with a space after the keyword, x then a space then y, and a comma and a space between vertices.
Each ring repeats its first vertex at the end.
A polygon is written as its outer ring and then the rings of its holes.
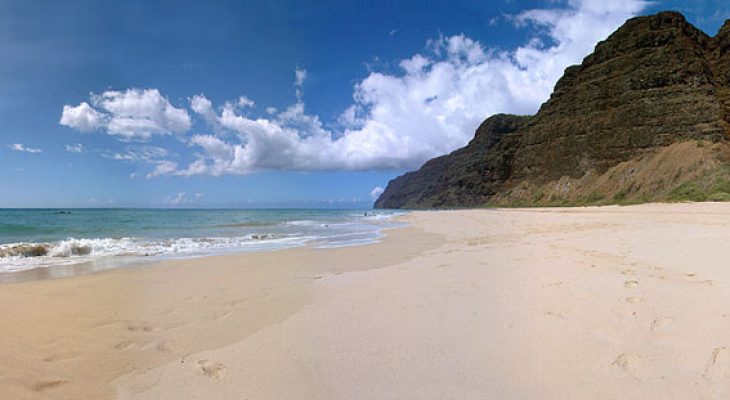
POLYGON ((730 18, 709 0, 0 1, 0 207, 369 206, 663 9, 709 34, 730 18))

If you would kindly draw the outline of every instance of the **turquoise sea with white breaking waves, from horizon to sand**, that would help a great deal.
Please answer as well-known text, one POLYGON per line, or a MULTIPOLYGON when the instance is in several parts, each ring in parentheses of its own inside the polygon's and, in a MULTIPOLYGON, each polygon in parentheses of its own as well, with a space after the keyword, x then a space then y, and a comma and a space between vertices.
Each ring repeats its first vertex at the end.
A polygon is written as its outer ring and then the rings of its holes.
POLYGON ((139 258, 376 242, 373 210, 0 209, 0 272, 139 258))

